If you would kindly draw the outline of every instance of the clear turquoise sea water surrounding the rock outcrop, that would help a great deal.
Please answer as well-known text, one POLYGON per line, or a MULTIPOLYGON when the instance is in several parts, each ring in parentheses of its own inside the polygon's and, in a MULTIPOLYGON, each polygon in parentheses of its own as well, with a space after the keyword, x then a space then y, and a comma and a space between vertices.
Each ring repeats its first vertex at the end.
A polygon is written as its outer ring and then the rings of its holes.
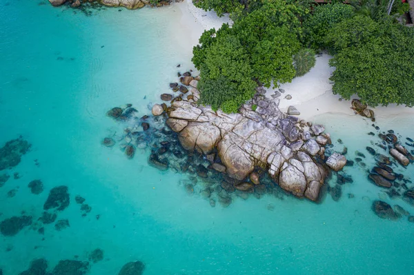
MULTIPOLYGON (((107 110, 132 103, 139 115, 148 114, 147 105, 176 79, 176 65, 191 68, 181 13, 171 6, 86 16, 39 5, 45 2, 0 3, 0 144, 19 135, 32 144, 6 170, 11 178, 0 187, 0 220, 24 211, 36 221, 49 190, 66 185, 71 201, 58 219, 68 218, 70 227, 45 225, 43 236, 34 223, 1 236, 3 274, 19 274, 34 258, 46 258, 50 269, 62 259, 87 261, 96 248, 104 258, 88 274, 117 274, 137 260, 147 275, 413 273, 414 224, 382 220, 371 204, 381 198, 411 214, 414 207, 388 198, 357 165, 346 167, 354 183, 342 185, 337 202, 329 195, 319 205, 266 195, 235 198, 224 208, 189 195, 180 184, 188 175, 150 167, 149 150, 128 160, 117 145, 103 147, 103 137, 120 136, 128 125, 108 119, 107 110), (14 172, 21 177, 13 179, 14 172), (34 179, 43 181, 39 195, 27 187, 34 179), (10 190, 17 190, 14 197, 10 190), (77 194, 92 207, 85 217, 77 194)), ((316 121, 344 141, 351 158, 373 139, 366 134, 371 122, 359 116, 316 121)), ((377 125, 414 136, 409 117, 378 118, 377 125)), ((402 171, 414 180, 413 165, 402 171)))

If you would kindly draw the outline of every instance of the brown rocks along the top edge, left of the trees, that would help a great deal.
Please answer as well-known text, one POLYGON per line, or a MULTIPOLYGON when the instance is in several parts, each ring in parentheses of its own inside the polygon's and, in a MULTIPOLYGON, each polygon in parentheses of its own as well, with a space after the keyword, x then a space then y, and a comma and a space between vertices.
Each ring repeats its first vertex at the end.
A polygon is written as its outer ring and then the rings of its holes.
MULTIPOLYGON (((177 1, 177 0, 176 0, 177 1)), ((103 6, 108 7, 124 7, 129 10, 135 10, 139 8, 144 8, 144 6, 169 6, 172 0, 161 0, 161 1, 151 1, 151 0, 49 0, 52 6, 61 6, 65 3, 70 5, 72 8, 78 8, 83 3, 98 2, 103 6)))

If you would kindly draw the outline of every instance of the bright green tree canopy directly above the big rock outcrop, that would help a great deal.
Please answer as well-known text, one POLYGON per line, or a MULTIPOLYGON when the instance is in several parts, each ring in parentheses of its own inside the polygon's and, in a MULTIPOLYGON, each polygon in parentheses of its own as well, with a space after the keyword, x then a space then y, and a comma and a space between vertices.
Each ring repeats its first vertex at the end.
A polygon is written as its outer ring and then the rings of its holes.
POLYGON ((230 28, 208 30, 193 49, 200 70, 201 102, 236 112, 255 93, 257 83, 288 82, 295 77, 293 55, 302 34, 299 17, 306 8, 282 0, 240 17, 230 28))

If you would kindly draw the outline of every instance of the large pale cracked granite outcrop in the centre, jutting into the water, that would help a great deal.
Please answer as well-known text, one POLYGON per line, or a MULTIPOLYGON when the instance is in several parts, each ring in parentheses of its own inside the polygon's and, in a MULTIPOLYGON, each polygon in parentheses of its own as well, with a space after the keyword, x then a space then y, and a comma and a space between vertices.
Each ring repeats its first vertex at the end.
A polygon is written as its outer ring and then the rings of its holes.
MULTIPOLYGON (((188 80, 192 94, 199 98, 197 81, 188 80)), ((345 157, 337 153, 323 161, 331 138, 322 125, 283 114, 278 101, 267 99, 260 88, 238 114, 215 112, 195 102, 194 97, 172 101, 166 109, 166 124, 178 133, 184 149, 213 159, 213 169, 235 181, 233 189, 253 190, 256 171, 262 170, 284 190, 316 201, 328 167, 339 171, 346 165, 345 157)), ((152 114, 162 114, 159 105, 152 108, 152 114)))

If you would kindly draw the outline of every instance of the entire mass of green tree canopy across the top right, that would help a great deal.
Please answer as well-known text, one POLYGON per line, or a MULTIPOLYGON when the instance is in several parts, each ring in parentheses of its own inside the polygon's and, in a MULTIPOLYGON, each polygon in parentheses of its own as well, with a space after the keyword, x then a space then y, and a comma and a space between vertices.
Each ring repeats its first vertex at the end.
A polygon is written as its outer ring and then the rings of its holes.
MULTIPOLYGON (((315 64, 314 52, 306 48, 311 47, 334 55, 335 94, 344 99, 357 94, 372 106, 413 106, 414 28, 388 16, 388 2, 336 1, 310 12, 308 0, 197 0, 206 10, 232 12, 234 20, 231 27, 204 32, 193 48, 201 103, 237 112, 255 86, 289 82, 308 72, 315 64)), ((390 12, 404 7, 397 3, 390 12)))

